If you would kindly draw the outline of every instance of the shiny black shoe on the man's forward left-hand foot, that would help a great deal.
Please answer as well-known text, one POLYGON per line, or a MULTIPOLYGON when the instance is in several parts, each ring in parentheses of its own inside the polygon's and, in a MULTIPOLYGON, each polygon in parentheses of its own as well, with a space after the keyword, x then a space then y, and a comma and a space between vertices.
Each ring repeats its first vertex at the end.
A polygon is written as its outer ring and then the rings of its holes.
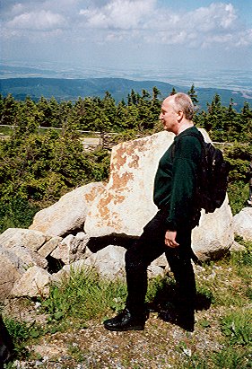
POLYGON ((145 324, 144 315, 133 315, 127 309, 119 313, 115 318, 104 321, 104 327, 109 330, 143 330, 145 324))

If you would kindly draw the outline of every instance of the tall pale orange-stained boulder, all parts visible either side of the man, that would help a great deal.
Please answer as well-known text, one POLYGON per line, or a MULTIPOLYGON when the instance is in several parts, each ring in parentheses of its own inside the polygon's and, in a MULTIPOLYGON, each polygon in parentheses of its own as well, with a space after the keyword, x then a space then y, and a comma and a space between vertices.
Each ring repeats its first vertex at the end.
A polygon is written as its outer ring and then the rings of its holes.
MULTIPOLYGON (((200 130, 210 142, 206 132, 200 130)), ((113 147, 108 186, 93 201, 84 224, 89 236, 139 236, 143 232, 143 226, 157 211, 152 201, 154 176, 173 138, 171 133, 160 132, 113 147)), ((213 214, 202 215, 199 227, 193 231, 193 249, 199 259, 218 257, 230 248, 231 218, 228 199, 213 214)))

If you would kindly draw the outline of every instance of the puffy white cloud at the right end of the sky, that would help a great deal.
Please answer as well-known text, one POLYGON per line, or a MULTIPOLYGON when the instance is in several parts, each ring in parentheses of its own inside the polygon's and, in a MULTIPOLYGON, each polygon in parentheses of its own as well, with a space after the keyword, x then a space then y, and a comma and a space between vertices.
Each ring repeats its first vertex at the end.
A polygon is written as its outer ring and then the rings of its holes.
POLYGON ((148 23, 152 32, 145 40, 163 45, 189 48, 224 48, 252 45, 251 30, 240 31, 238 15, 232 4, 213 3, 188 13, 162 13, 148 23), (158 22, 159 21, 159 22, 158 22))

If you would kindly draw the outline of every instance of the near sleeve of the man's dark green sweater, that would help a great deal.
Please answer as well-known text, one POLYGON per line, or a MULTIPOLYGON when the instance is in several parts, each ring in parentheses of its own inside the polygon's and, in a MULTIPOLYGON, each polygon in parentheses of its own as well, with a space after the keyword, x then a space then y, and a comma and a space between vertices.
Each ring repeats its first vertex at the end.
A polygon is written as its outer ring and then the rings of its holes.
POLYGON ((188 224, 192 215, 196 171, 201 154, 200 143, 196 137, 181 137, 175 147, 167 218, 168 229, 171 231, 177 230, 183 224, 188 224))

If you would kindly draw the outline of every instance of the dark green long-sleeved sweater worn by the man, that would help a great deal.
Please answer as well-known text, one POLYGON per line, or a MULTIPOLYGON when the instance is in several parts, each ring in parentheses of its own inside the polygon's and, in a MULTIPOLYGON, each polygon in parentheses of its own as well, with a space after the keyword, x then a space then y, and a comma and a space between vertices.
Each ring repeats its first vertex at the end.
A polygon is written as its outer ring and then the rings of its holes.
POLYGON ((175 136, 174 142, 161 157, 154 181, 154 203, 166 214, 170 231, 187 226, 194 215, 193 203, 196 189, 196 172, 200 163, 201 144, 189 127, 175 136))

